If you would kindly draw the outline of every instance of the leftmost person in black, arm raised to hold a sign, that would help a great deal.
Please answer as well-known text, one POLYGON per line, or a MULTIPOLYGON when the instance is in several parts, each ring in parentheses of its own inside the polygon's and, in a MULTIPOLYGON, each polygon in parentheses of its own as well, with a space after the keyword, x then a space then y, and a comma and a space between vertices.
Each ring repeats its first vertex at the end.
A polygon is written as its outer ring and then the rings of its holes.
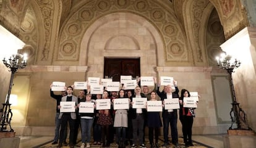
MULTIPOLYGON (((51 144, 58 144, 59 141, 59 129, 61 128, 61 119, 59 119, 59 109, 58 105, 61 102, 61 98, 67 95, 66 91, 61 91, 61 94, 54 94, 54 92, 51 90, 51 87, 53 84, 50 85, 50 96, 56 99, 56 116, 55 116, 55 136, 53 139, 53 142, 51 144)), ((64 131, 64 138, 67 137, 67 130, 64 131)), ((66 141, 64 141, 66 143, 66 141)))

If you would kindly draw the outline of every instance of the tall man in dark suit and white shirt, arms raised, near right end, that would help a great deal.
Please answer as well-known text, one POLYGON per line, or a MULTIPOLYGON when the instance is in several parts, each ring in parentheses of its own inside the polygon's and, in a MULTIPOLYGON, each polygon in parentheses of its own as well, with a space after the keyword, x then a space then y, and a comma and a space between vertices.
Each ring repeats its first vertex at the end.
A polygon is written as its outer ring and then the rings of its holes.
MULTIPOLYGON (((179 98, 179 89, 177 88, 177 85, 174 84, 176 91, 172 92, 171 85, 167 85, 164 89, 164 92, 159 91, 159 87, 156 91, 158 96, 161 98, 161 101, 164 101, 164 99, 173 99, 173 98, 179 98)), ((169 131, 169 125, 171 126, 171 141, 174 144, 174 146, 179 147, 178 144, 178 134, 177 134, 177 109, 163 109, 162 113, 163 117, 163 133, 164 133, 164 147, 167 147, 169 145, 168 142, 168 131, 169 131)))

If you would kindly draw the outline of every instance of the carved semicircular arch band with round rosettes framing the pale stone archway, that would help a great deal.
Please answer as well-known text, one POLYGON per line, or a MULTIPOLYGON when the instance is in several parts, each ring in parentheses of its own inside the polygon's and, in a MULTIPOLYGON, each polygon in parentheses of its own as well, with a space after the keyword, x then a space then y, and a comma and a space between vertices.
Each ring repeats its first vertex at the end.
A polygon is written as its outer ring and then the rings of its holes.
POLYGON ((189 63, 187 39, 173 11, 164 9, 157 1, 147 0, 113 0, 86 1, 67 17, 59 34, 56 61, 78 61, 80 43, 85 31, 101 17, 126 12, 139 15, 150 22, 160 33, 164 43, 166 62, 189 63))

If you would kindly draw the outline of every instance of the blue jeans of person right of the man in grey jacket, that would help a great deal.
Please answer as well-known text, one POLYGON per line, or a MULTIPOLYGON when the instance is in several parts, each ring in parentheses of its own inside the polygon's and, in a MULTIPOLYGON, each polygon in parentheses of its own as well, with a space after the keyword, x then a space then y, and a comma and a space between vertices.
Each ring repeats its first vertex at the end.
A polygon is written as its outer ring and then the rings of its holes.
POLYGON ((83 143, 91 141, 92 125, 93 125, 93 118, 92 119, 81 118, 81 137, 82 137, 83 143))

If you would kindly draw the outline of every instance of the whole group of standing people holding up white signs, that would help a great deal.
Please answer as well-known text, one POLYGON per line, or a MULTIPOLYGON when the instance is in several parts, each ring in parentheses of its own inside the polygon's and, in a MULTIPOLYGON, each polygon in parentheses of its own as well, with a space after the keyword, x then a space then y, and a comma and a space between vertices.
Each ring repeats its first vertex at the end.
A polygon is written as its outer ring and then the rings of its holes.
MULTIPOLYGON (((154 78, 155 79, 155 78, 154 78)), ((83 147, 90 147, 91 142, 91 129, 93 128, 93 144, 101 145, 102 147, 109 147, 114 142, 114 134, 116 135, 115 142, 118 147, 126 147, 130 145, 131 148, 135 147, 147 147, 145 145, 145 127, 148 127, 148 139, 150 147, 160 147, 158 145, 158 136, 160 135, 160 128, 163 126, 164 144, 163 147, 168 147, 169 138, 168 131, 169 125, 171 126, 171 142, 174 146, 179 147, 178 134, 177 134, 177 109, 164 109, 162 118, 160 112, 147 112, 146 109, 133 109, 133 98, 147 97, 148 101, 164 102, 164 99, 179 98, 179 120, 182 123, 182 133, 184 144, 186 147, 193 146, 192 144, 192 125, 193 118, 195 117, 194 108, 183 107, 184 97, 190 97, 189 91, 182 89, 181 97, 179 97, 179 89, 177 88, 177 81, 174 81, 175 91, 170 85, 164 86, 163 91, 160 91, 160 84, 156 84, 153 91, 149 92, 148 86, 140 87, 140 79, 138 79, 138 86, 134 90, 120 89, 119 92, 103 91, 103 94, 90 94, 90 89, 80 90, 79 96, 74 96, 74 88, 68 86, 66 91, 63 91, 61 95, 55 95, 50 89, 51 97, 56 99, 56 130, 54 141, 52 144, 58 144, 62 147, 62 144, 66 142, 67 136, 67 122, 69 122, 69 146, 74 147, 77 142, 77 134, 79 131, 79 125, 81 128, 81 139, 83 147), (129 98, 129 109, 114 110, 113 105, 111 109, 94 110, 94 113, 79 113, 80 102, 94 102, 96 99, 114 99, 129 98), (75 102, 76 112, 60 112, 61 101, 73 101, 75 102), (60 130, 60 132, 59 132, 60 130), (115 132, 114 132, 115 131, 115 132), (155 142, 154 142, 155 137, 155 142)), ((164 104, 164 103, 163 103, 164 104)), ((96 105, 95 105, 96 106, 96 105)))

